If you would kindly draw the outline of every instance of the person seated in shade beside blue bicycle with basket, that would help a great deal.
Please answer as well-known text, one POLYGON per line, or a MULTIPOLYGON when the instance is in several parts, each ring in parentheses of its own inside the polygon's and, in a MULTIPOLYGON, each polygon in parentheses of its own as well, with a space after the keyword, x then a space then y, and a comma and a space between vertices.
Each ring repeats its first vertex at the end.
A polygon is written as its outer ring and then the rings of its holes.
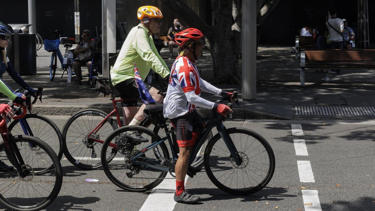
POLYGON ((83 30, 82 40, 78 42, 77 47, 74 49, 74 55, 77 56, 73 62, 73 70, 77 76, 78 85, 82 84, 82 71, 81 66, 86 65, 90 72, 92 56, 86 56, 87 51, 97 52, 96 42, 91 40, 90 30, 83 30))

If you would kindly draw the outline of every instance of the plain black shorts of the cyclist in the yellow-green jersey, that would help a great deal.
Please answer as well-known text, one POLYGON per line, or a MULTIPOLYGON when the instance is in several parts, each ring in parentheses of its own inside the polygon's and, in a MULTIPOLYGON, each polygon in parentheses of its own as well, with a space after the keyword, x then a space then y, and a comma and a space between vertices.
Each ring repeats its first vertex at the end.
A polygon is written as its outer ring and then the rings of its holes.
MULTIPOLYGON (((148 90, 151 89, 152 86, 147 83, 144 84, 148 90)), ((124 101, 121 102, 122 107, 137 106, 139 91, 137 85, 135 84, 134 78, 121 81, 115 85, 115 88, 118 92, 120 92, 121 99, 124 99, 124 101)))

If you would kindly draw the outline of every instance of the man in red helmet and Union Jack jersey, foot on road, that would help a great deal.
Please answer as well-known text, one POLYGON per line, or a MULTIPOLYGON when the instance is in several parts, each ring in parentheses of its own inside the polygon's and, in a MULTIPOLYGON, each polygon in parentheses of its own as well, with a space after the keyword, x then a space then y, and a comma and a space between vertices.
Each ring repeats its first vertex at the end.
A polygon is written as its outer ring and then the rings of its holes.
POLYGON ((233 111, 225 104, 207 101, 200 97, 201 90, 221 95, 229 99, 233 93, 226 92, 212 86, 203 80, 196 67, 197 58, 201 56, 204 35, 198 29, 185 29, 175 35, 175 42, 181 46, 182 52, 172 65, 169 78, 168 91, 163 101, 164 118, 171 120, 176 128, 176 140, 180 149, 175 165, 176 191, 174 200, 180 203, 195 203, 199 196, 193 196, 184 188, 184 180, 189 163, 192 146, 204 125, 194 125, 199 121, 196 107, 216 109, 218 113, 226 116, 233 111))

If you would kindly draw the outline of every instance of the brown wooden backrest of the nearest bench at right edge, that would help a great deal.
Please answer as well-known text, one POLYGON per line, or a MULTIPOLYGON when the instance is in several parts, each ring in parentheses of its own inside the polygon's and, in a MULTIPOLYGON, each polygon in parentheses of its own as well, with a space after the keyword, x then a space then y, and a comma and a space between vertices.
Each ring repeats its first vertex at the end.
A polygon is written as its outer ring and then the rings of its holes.
POLYGON ((375 61, 375 49, 306 50, 306 61, 375 61))

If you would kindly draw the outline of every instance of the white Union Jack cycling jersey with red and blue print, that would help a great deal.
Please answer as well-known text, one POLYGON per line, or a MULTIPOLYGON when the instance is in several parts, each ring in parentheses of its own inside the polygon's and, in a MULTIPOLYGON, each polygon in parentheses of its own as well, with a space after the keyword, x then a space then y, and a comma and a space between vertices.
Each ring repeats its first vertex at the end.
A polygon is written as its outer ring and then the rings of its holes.
POLYGON ((177 118, 193 112, 195 107, 213 109, 214 102, 200 97, 201 89, 220 95, 221 89, 200 78, 196 64, 185 56, 178 56, 174 61, 169 77, 166 96, 163 100, 164 117, 177 118))

